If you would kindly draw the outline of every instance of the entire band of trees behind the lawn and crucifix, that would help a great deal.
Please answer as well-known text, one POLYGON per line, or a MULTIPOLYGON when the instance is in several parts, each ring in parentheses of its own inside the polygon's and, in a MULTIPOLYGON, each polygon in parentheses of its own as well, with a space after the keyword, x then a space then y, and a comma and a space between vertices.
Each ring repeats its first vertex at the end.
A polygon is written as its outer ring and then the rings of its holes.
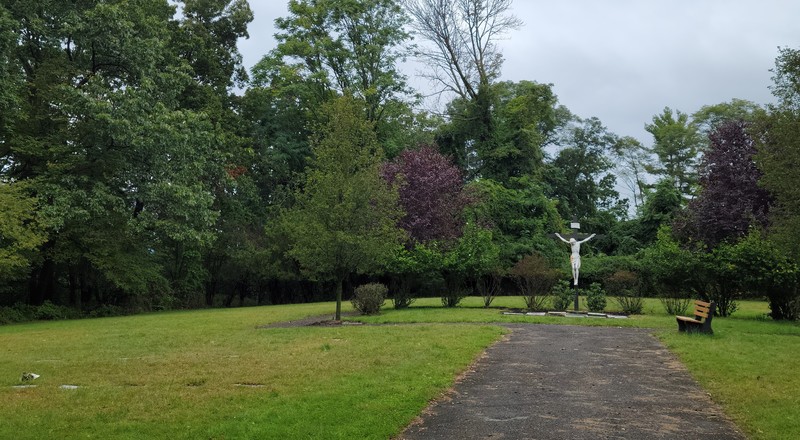
POLYGON ((248 72, 252 19, 246 0, 0 5, 0 306, 334 297, 338 318, 373 281, 396 307, 454 306, 528 255, 558 267, 575 217, 602 235, 592 281, 635 273, 726 314, 761 288, 800 314, 797 49, 773 105, 664 107, 636 139, 501 80, 511 0, 290 0, 248 72))

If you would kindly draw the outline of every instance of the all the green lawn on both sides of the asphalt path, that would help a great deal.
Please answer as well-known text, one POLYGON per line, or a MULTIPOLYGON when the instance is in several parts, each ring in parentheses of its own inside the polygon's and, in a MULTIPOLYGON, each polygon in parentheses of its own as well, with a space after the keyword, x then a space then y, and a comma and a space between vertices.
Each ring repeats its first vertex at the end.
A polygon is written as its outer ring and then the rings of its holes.
POLYGON ((12 325, 0 327, 0 438, 388 438, 501 337, 497 322, 653 328, 750 437, 800 438, 800 325, 767 311, 741 302, 713 336, 678 334, 657 300, 627 320, 431 298, 351 318, 418 325, 257 328, 331 303, 12 325), (36 388, 13 388, 23 371, 42 375, 36 388))

